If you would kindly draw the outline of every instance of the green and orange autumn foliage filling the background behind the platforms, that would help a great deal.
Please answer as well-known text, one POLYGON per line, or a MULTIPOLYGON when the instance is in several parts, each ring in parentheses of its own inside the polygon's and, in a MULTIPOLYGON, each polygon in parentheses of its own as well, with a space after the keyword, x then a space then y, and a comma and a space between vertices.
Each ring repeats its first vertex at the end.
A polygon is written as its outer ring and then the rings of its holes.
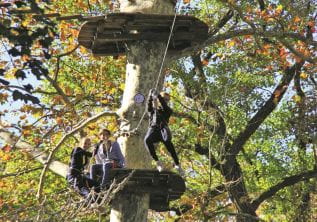
MULTIPOLYGON (((0 218, 57 221, 78 196, 49 169, 68 164, 81 136, 97 142, 100 128, 119 128, 126 57, 95 57, 77 42, 85 16, 118 12, 119 2, 0 8, 0 218)), ((149 221, 315 221, 316 1, 179 0, 176 10, 209 33, 169 56, 163 72, 187 190, 174 213, 149 221)))

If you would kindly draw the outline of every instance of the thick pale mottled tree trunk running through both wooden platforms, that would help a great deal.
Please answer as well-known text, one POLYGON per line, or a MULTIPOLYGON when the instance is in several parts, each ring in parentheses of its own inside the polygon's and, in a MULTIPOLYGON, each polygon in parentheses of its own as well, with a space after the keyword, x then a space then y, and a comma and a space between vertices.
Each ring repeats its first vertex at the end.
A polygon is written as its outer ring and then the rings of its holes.
MULTIPOLYGON (((120 1, 121 12, 145 12, 173 14, 170 0, 120 1)), ((139 41, 128 45, 126 81, 122 106, 118 111, 122 122, 121 131, 130 131, 138 126, 145 110, 146 101, 136 104, 134 96, 143 94, 146 98, 149 90, 155 87, 167 40, 164 42, 139 41)), ((163 74, 160 75, 158 90, 162 88, 163 74)), ((140 124, 137 134, 121 136, 118 141, 126 158, 128 168, 150 168, 151 158, 144 147, 143 138, 147 130, 147 114, 140 124)), ((147 221, 149 195, 124 194, 112 202, 111 222, 147 221)))

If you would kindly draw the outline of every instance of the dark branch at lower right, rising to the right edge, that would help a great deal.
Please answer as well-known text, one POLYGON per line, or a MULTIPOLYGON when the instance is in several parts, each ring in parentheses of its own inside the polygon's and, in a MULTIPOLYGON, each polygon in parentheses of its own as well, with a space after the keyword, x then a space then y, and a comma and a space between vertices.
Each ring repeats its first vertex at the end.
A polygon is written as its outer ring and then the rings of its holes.
POLYGON ((257 209, 263 201, 274 196, 278 191, 284 189, 285 187, 292 186, 300 181, 308 180, 316 176, 317 169, 303 172, 294 176, 286 177, 283 179, 282 182, 270 187, 267 191, 263 192, 258 198, 254 199, 251 202, 251 204, 254 207, 254 209, 257 209))

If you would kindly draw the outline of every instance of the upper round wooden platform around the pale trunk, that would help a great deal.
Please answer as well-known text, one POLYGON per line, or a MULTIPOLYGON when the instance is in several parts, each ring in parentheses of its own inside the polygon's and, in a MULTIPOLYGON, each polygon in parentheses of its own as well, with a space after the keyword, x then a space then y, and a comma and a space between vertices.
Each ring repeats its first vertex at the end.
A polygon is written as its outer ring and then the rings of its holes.
MULTIPOLYGON (((94 55, 120 55, 126 52, 126 43, 132 41, 166 42, 173 24, 173 15, 140 13, 113 13, 90 18, 78 35, 80 45, 94 55)), ((208 37, 208 26, 192 16, 176 17, 169 53, 177 53, 208 37)))

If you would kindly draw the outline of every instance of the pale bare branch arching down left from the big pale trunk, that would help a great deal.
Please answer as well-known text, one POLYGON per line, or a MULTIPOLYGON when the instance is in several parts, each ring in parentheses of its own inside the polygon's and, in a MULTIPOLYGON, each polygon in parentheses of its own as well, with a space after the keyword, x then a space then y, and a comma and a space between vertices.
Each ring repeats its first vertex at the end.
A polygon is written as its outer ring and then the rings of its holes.
POLYGON ((61 145, 72 135, 74 135, 75 133, 79 132, 81 129, 83 129, 85 126, 87 126, 88 124, 97 121, 98 119, 104 117, 104 116, 117 116, 116 112, 111 112, 111 111, 104 111, 102 113, 99 113, 98 115, 95 115, 89 119, 87 119, 86 121, 84 121, 83 123, 81 123, 78 127, 76 127, 75 129, 73 129, 72 131, 70 131, 69 133, 65 134, 60 141, 57 143, 57 145, 52 149, 52 151, 49 153, 47 161, 45 162, 45 166, 42 170, 41 176, 40 176, 40 182, 39 182, 39 186, 38 186, 38 191, 37 191, 37 198, 41 199, 41 195, 42 195, 42 189, 43 189, 43 183, 45 180, 45 174, 47 169, 49 169, 53 157, 55 155, 55 153, 57 152, 57 150, 61 147, 61 145))

